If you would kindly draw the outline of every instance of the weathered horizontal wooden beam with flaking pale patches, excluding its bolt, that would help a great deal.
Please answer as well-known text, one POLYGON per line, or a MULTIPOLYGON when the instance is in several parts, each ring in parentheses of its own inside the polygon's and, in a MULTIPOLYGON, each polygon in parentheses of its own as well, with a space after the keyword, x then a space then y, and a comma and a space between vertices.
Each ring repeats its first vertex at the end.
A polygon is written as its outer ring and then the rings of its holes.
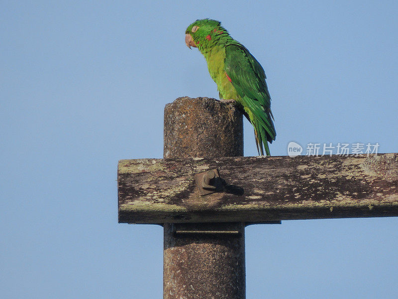
POLYGON ((120 223, 398 216, 398 153, 120 160, 120 223), (224 190, 199 195, 217 168, 224 190))

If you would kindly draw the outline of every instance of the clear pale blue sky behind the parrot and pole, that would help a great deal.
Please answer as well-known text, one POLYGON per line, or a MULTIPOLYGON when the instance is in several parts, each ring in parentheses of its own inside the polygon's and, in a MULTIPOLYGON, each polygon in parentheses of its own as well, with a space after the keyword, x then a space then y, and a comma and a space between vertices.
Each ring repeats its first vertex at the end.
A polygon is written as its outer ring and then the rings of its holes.
MULTIPOLYGON (((397 1, 1 1, 1 298, 162 298, 163 230, 117 223, 117 161, 164 106, 218 97, 184 42, 222 21, 264 67, 277 140, 398 151, 397 1)), ((245 155, 256 155, 245 122, 245 155)), ((398 217, 246 229, 247 298, 397 298, 398 217)))

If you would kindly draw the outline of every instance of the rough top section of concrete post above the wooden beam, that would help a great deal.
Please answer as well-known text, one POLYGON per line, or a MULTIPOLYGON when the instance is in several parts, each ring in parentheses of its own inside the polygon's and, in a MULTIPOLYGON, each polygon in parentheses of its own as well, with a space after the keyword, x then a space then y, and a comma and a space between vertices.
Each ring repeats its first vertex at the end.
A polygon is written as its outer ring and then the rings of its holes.
POLYGON ((178 98, 165 107, 163 155, 243 156, 242 113, 212 98, 178 98))

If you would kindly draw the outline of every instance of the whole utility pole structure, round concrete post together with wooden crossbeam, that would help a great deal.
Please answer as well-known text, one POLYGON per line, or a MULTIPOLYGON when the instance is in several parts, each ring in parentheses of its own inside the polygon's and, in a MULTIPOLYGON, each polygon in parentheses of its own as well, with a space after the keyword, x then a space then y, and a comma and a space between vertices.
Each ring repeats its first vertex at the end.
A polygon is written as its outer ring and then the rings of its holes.
POLYGON ((119 223, 164 224, 164 299, 244 299, 244 227, 398 216, 398 153, 243 157, 232 104, 165 108, 164 159, 120 160, 119 223))

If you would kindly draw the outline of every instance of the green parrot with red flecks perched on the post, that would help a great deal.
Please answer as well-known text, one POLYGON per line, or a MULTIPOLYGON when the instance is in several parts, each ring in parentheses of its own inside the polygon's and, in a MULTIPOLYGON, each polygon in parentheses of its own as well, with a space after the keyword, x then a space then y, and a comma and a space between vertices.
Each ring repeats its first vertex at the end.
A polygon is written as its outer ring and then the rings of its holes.
POLYGON ((236 102, 253 125, 259 154, 264 155, 264 145, 270 155, 268 142, 275 140, 276 132, 267 77, 260 63, 216 20, 201 19, 189 25, 185 43, 203 54, 220 100, 236 102))

